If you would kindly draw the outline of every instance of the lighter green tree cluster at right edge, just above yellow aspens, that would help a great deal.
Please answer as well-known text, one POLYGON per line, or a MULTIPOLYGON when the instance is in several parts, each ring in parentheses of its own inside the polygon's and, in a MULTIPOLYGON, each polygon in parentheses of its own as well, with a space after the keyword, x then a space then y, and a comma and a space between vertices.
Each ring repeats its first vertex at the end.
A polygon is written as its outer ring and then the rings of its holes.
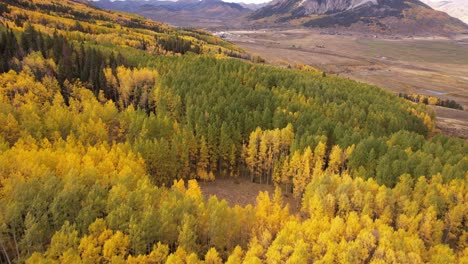
POLYGON ((358 143, 349 160, 355 175, 374 178, 393 186, 400 175, 414 177, 442 174, 443 180, 463 178, 468 171, 468 144, 464 140, 437 135, 431 140, 407 131, 391 137, 370 137, 358 143))

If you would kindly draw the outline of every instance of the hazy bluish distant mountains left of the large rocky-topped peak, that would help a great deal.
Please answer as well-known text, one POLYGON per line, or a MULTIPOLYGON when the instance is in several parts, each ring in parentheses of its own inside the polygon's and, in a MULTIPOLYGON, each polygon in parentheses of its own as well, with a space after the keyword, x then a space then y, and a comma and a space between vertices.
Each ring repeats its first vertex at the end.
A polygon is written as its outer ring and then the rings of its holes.
MULTIPOLYGON (((221 0, 134 0, 134 1, 110 1, 100 0, 93 2, 103 9, 113 9, 132 12, 145 17, 162 21, 179 27, 234 27, 240 25, 250 9, 237 3, 227 3, 221 0)), ((257 6, 257 9, 259 7, 257 6)))

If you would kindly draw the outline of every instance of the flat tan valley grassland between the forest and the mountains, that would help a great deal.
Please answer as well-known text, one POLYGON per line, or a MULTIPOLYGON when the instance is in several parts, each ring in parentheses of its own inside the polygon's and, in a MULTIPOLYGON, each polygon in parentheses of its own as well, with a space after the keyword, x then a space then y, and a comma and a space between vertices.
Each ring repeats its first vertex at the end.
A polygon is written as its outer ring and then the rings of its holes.
MULTIPOLYGON (((273 65, 307 64, 395 93, 455 100, 468 109, 468 35, 389 39, 294 29, 229 31, 223 36, 273 65)), ((442 132, 468 138, 468 111, 433 109, 442 132)))

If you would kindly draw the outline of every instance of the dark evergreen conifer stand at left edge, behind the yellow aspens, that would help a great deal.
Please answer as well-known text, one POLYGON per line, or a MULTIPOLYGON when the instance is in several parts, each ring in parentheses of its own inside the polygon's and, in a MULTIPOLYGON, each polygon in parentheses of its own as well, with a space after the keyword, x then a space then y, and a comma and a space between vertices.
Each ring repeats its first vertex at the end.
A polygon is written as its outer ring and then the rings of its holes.
POLYGON ((79 79, 96 96, 103 91, 106 98, 118 101, 116 93, 108 89, 104 69, 110 67, 115 71, 117 66, 125 64, 121 54, 105 54, 83 44, 73 45, 62 35, 44 35, 29 24, 19 35, 18 40, 12 29, 1 33, 0 72, 20 71, 28 67, 37 80, 46 74, 56 77, 66 100, 70 91, 66 90, 65 81, 79 79))

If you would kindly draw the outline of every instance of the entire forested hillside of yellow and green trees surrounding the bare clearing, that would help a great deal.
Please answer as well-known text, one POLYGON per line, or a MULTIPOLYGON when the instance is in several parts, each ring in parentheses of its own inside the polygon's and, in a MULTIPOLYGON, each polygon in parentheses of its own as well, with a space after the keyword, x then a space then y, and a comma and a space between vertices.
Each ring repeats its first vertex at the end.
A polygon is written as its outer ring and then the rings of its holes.
POLYGON ((426 105, 78 2, 0 13, 1 263, 468 262, 468 143, 426 105), (220 177, 277 188, 231 207, 220 177))

